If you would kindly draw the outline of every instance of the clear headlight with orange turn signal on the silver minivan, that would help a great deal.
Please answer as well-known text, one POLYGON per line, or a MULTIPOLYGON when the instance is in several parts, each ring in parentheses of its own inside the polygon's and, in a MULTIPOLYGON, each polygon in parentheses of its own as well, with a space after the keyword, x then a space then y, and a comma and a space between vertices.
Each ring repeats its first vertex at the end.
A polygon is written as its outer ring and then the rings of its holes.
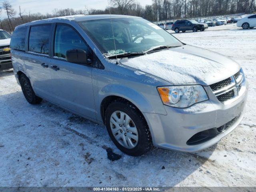
POLYGON ((186 108, 195 103, 208 100, 201 85, 158 87, 162 102, 168 106, 186 108))

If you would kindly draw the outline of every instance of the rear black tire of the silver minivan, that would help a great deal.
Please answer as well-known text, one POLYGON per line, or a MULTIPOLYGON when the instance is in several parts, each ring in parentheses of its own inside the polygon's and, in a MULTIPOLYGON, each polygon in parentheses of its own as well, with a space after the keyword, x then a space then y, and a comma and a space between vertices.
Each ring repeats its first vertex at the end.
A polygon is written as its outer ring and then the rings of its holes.
POLYGON ((20 75, 20 86, 24 97, 30 104, 39 104, 42 101, 42 98, 36 96, 32 89, 30 80, 24 74, 20 75))

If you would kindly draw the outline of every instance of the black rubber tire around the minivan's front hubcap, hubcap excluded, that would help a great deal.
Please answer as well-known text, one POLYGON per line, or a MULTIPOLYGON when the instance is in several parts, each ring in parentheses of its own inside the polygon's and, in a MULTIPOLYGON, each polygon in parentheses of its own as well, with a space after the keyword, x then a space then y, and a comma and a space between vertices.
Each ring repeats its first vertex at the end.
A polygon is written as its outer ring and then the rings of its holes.
POLYGON ((130 156, 141 156, 148 152, 152 147, 152 138, 150 130, 148 128, 148 124, 142 113, 130 102, 123 99, 117 99, 114 102, 110 103, 106 110, 105 122, 110 138, 117 146, 117 148, 120 149, 122 152, 130 156), (122 146, 112 134, 110 127, 110 117, 115 111, 122 111, 126 113, 128 116, 130 116, 130 118, 136 125, 138 131, 138 143, 132 149, 128 149, 122 146))

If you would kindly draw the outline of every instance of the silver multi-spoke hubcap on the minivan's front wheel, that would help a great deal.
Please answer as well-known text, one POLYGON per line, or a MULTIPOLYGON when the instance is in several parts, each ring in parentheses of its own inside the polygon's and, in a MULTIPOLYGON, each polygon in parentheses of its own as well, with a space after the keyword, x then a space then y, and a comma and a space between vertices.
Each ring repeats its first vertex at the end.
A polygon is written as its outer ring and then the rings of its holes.
POLYGON ((110 116, 110 128, 120 145, 132 149, 138 144, 138 130, 132 118, 125 112, 115 111, 110 116))

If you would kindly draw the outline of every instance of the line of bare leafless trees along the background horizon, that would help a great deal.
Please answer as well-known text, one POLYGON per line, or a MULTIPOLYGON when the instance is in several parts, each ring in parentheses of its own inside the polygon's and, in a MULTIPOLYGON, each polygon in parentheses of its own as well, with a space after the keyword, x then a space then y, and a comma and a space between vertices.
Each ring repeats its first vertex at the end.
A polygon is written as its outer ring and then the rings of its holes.
POLYGON ((110 0, 105 10, 84 6, 83 10, 72 8, 52 10, 52 13, 30 13, 29 10, 14 10, 12 4, 5 0, 0 4, 0 28, 12 32, 20 24, 76 14, 126 14, 143 17, 150 21, 172 20, 178 18, 195 18, 218 16, 235 13, 252 13, 256 10, 255 0, 152 0, 151 5, 142 6, 135 0, 110 0))

